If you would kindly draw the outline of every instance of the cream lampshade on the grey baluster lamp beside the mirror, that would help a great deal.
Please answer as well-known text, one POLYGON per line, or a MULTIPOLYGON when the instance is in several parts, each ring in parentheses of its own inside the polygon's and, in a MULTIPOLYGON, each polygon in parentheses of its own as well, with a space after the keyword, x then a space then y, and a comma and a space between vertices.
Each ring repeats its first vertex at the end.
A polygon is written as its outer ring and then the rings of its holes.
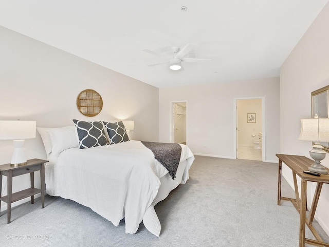
POLYGON ((302 128, 299 140, 310 142, 329 142, 329 118, 300 119, 302 128))

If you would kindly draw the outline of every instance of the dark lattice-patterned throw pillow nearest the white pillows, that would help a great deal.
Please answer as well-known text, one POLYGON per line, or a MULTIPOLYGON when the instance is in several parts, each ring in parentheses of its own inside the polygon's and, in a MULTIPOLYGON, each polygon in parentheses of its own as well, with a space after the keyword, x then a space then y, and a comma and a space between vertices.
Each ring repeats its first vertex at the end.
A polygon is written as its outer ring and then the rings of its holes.
POLYGON ((73 122, 77 129, 80 149, 107 145, 105 128, 101 121, 87 122, 73 119, 73 122))

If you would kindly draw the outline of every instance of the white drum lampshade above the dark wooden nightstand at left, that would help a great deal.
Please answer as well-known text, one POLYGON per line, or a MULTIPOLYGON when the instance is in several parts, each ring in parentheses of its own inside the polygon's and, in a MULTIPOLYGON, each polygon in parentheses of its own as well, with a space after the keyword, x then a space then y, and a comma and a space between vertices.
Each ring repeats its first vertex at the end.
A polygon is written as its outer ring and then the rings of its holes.
POLYGON ((1 120, 0 140, 35 138, 36 121, 1 120))

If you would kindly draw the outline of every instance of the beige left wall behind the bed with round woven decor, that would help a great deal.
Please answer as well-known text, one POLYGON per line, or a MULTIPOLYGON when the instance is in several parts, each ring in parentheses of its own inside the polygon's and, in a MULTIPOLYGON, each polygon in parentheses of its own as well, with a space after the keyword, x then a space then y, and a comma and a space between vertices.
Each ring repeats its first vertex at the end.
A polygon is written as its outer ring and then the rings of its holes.
MULTIPOLYGON (((158 141, 156 87, 1 26, 0 86, 0 120, 36 120, 38 127, 63 127, 73 125, 72 119, 131 119, 133 139, 158 141), (96 117, 85 117, 77 109, 77 96, 85 89, 96 90, 103 98, 103 110, 96 117)), ((28 159, 46 158, 38 133, 24 147, 28 159)), ((0 164, 9 163, 12 152, 12 142, 0 140, 0 164)), ((5 184, 6 179, 3 189, 5 184)), ((13 190, 28 185, 29 175, 23 175, 14 179, 13 190)))

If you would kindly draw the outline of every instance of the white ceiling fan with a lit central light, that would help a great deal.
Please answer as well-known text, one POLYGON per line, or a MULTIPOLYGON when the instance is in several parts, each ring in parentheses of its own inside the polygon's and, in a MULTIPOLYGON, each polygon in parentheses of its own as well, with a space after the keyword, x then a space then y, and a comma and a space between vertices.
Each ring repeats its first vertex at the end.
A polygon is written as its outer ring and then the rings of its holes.
MULTIPOLYGON (((211 60, 211 59, 203 59, 203 58, 184 58, 184 56, 186 54, 188 54, 188 52, 190 52, 192 49, 194 49, 194 47, 195 47, 195 45, 192 45, 192 44, 187 44, 182 49, 179 49, 179 47, 174 46, 171 48, 171 50, 174 52, 174 57, 172 59, 170 59, 169 61, 166 61, 166 62, 149 64, 148 66, 156 66, 156 65, 160 65, 160 64, 169 62, 169 67, 172 70, 178 70, 181 68, 181 62, 205 62, 205 61, 211 60)), ((152 50, 143 49, 143 51, 149 52, 150 54, 153 54, 156 56, 162 56, 152 50)))

